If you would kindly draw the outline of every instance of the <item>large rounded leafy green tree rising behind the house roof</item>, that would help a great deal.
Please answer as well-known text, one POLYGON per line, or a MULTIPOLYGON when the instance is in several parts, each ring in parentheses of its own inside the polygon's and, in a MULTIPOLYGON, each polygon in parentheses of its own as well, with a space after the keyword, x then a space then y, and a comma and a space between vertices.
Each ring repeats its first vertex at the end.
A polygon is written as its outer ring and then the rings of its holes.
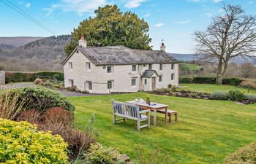
MULTIPOLYGON (((89 46, 123 45, 133 49, 151 50, 148 23, 135 13, 122 13, 116 5, 106 5, 95 10, 95 14, 94 18, 83 20, 73 30, 75 42, 84 35, 89 46)), ((72 49, 72 46, 68 44, 67 49, 72 49)))

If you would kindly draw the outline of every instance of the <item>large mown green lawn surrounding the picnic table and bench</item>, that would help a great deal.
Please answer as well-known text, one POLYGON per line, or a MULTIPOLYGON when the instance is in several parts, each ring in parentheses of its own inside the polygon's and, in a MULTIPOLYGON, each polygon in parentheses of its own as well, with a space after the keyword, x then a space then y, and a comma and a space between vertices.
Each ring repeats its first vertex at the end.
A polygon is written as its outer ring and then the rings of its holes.
MULTIPOLYGON (((211 91, 211 90, 208 90, 211 91)), ((101 135, 99 142, 116 147, 135 159, 138 144, 146 157, 157 147, 178 163, 222 163, 227 155, 256 140, 256 104, 237 105, 233 101, 211 101, 151 95, 151 101, 168 104, 178 111, 179 122, 165 125, 157 116, 157 128, 137 131, 136 122, 112 124, 110 99, 129 101, 146 98, 145 93, 70 97, 75 104, 75 120, 83 129, 91 114, 101 135)), ((152 116, 152 114, 151 114, 152 116)), ((151 117, 151 125, 153 118, 151 117)))

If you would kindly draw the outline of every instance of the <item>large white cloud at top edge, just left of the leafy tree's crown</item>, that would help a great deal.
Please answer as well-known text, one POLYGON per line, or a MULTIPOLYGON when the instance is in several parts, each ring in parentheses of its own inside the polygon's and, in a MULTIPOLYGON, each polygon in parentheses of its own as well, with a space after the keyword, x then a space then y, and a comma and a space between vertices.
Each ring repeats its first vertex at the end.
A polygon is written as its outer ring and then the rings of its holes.
POLYGON ((61 0, 58 4, 53 4, 53 6, 44 10, 47 11, 47 15, 50 15, 56 9, 83 15, 85 12, 94 12, 95 9, 105 4, 107 4, 105 0, 61 0))

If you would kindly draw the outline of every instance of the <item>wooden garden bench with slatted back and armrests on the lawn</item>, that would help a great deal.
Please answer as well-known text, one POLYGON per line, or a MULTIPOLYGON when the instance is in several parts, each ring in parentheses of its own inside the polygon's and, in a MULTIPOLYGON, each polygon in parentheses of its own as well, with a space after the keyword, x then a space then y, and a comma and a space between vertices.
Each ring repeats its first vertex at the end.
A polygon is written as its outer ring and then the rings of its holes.
POLYGON ((150 110, 141 110, 138 104, 128 104, 123 102, 118 102, 112 100, 113 106, 113 124, 116 124, 116 121, 131 119, 137 121, 137 128, 140 131, 141 128, 150 127, 150 110), (145 115, 146 114, 146 115, 145 115), (116 120, 116 116, 122 117, 121 119, 116 120), (146 125, 140 125, 140 122, 147 121, 146 125))

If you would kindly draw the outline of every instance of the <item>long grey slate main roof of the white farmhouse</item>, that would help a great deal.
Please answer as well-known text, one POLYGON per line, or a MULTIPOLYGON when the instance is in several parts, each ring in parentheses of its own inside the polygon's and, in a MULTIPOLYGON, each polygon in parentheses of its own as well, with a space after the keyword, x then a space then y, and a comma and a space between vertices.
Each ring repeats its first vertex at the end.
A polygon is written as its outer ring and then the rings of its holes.
MULTIPOLYGON (((178 63, 178 60, 173 58, 169 53, 158 50, 135 50, 124 46, 77 47, 75 50, 82 52, 96 66, 178 63)), ((62 64, 67 62, 72 53, 62 64)))

